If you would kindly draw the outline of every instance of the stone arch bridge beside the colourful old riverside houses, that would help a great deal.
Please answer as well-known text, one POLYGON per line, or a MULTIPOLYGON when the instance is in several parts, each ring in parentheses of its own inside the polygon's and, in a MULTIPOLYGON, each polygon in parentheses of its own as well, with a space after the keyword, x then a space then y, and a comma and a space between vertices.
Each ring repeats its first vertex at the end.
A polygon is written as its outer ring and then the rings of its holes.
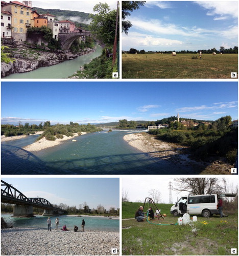
POLYGON ((61 40, 61 49, 68 50, 77 38, 90 35, 90 32, 85 30, 79 30, 77 33, 59 33, 58 38, 61 40))

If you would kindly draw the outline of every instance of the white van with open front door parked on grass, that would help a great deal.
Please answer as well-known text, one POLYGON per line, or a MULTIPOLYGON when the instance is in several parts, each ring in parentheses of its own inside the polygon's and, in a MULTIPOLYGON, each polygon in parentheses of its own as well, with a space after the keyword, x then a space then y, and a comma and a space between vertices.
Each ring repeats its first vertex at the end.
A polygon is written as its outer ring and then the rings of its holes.
POLYGON ((236 194, 210 194, 181 197, 170 209, 174 216, 183 215, 202 215, 211 217, 213 214, 219 214, 218 198, 235 197, 236 194))

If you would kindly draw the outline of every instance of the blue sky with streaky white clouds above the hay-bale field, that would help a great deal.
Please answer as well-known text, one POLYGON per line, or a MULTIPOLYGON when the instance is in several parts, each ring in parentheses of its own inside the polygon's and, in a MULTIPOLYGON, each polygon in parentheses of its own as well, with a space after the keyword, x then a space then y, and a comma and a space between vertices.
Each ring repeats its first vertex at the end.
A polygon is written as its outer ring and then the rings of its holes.
POLYGON ((132 27, 122 34, 122 50, 220 50, 238 46, 238 2, 146 1, 126 17, 132 27))

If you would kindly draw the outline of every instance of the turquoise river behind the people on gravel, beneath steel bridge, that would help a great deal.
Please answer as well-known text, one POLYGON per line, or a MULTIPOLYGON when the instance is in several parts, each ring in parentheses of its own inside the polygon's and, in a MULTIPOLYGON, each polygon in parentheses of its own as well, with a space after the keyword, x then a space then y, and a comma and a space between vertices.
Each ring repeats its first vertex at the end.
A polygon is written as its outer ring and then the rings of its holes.
MULTIPOLYGON (((39 229, 47 229, 47 219, 48 216, 36 215, 34 218, 12 218, 12 215, 2 214, 8 224, 11 224, 13 227, 31 227, 39 229)), ((50 217, 52 221, 52 228, 55 228, 55 219, 56 217, 50 217)), ((59 228, 62 228, 63 225, 69 230, 73 230, 74 226, 78 226, 81 230, 82 220, 85 220, 85 230, 100 230, 100 231, 111 231, 118 232, 120 230, 120 221, 117 219, 109 219, 107 217, 76 217, 76 216, 59 216, 59 228)))

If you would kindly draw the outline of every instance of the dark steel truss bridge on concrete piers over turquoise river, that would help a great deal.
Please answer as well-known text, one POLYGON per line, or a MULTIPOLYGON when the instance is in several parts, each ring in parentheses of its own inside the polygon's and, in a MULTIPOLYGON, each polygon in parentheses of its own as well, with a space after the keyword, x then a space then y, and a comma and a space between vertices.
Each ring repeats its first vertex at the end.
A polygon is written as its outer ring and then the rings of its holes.
POLYGON ((28 198, 12 185, 1 180, 1 202, 14 204, 13 217, 34 217, 33 207, 44 209, 44 216, 62 215, 65 210, 54 207, 44 198, 28 198))

